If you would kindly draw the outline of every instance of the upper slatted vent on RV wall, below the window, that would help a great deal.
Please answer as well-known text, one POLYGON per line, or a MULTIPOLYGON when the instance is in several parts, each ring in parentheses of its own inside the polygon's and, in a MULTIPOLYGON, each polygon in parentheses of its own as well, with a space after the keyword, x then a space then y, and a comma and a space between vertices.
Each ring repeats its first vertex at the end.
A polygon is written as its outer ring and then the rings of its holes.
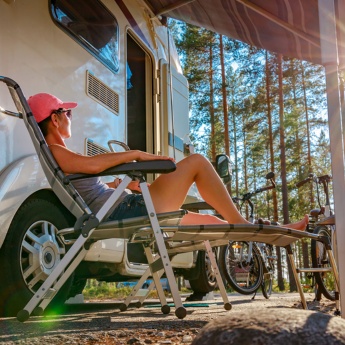
POLYGON ((89 71, 86 71, 86 93, 105 108, 119 114, 119 95, 89 71))

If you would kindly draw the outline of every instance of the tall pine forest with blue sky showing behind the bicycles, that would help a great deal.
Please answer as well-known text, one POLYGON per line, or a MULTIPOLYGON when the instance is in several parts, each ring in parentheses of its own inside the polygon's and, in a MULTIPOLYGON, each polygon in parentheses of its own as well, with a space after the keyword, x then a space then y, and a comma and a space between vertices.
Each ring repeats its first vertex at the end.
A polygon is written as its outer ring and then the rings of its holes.
MULTIPOLYGON (((169 27, 189 82, 196 152, 231 158, 233 196, 275 173, 276 189, 254 200, 258 217, 289 223, 318 207, 315 186, 296 183, 331 174, 324 68, 186 23, 170 20, 169 27)), ((299 246, 296 259, 308 267, 308 243, 299 246)), ((285 251, 276 254, 279 289, 289 281, 296 291, 285 251)))

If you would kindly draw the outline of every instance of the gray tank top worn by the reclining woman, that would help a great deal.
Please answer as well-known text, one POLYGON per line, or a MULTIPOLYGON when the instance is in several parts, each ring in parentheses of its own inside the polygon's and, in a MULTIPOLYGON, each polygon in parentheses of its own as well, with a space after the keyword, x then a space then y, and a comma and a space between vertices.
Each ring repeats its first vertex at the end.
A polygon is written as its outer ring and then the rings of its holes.
MULTIPOLYGON (((115 190, 109 188, 99 177, 76 180, 73 181, 73 185, 94 214, 100 210, 115 190)), ((124 191, 111 210, 114 210, 128 194, 124 191)))

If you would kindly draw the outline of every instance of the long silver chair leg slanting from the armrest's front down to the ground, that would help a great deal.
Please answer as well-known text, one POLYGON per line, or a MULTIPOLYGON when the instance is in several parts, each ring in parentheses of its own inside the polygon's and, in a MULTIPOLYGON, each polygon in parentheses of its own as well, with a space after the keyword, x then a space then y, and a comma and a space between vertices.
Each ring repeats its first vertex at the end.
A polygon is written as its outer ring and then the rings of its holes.
POLYGON ((175 304, 175 315, 179 319, 183 319, 187 315, 187 312, 186 312, 186 309, 182 305, 181 296, 178 291, 175 275, 171 266, 171 261, 168 256, 167 249, 165 247, 163 234, 159 226, 159 222, 157 219, 156 211, 152 203, 150 192, 145 181, 141 181, 140 187, 141 187, 143 198, 146 204, 147 212, 150 218, 153 234, 156 239, 156 244, 158 247, 160 259, 162 260, 162 265, 165 271, 165 275, 170 285, 171 294, 172 294, 174 304, 175 304))

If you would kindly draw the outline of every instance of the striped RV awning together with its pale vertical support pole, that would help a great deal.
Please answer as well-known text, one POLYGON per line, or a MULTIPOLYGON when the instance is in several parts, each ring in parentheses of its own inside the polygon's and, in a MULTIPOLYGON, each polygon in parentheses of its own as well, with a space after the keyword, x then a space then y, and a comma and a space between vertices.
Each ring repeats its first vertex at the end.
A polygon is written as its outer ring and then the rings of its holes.
POLYGON ((341 310, 345 318, 345 106, 338 70, 345 69, 345 0, 145 0, 158 15, 248 44, 322 64, 336 214, 341 310))

